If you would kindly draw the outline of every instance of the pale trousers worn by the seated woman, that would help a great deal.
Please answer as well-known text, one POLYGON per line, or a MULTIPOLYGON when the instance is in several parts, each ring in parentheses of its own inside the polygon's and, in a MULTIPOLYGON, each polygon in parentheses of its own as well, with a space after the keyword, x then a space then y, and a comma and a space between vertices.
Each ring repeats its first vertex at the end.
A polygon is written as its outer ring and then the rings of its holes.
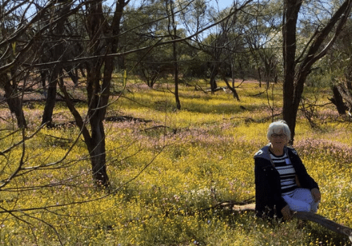
POLYGON ((296 188, 292 195, 282 196, 289 208, 297 212, 317 212, 320 201, 315 202, 312 193, 306 188, 296 188))

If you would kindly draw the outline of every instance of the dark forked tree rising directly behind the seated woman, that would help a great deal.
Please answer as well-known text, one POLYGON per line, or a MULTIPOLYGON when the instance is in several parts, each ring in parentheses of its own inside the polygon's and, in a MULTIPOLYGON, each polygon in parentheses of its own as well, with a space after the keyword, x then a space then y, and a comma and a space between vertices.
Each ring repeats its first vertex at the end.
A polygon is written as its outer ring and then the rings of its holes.
POLYGON ((283 57, 284 57, 284 107, 282 115, 291 129, 291 141, 294 140, 294 129, 296 127, 296 116, 304 82, 311 72, 315 62, 326 55, 329 48, 336 41, 341 30, 351 13, 352 1, 344 1, 337 6, 331 17, 324 22, 317 23, 315 32, 303 50, 297 55, 297 25, 298 14, 301 11, 303 1, 284 1, 284 23, 283 23, 283 57))

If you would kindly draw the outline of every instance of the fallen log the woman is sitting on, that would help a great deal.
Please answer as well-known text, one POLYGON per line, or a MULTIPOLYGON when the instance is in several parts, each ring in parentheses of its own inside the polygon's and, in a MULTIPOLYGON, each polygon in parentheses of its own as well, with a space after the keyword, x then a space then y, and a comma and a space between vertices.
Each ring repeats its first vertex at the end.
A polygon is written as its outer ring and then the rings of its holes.
MULTIPOLYGON (((246 205, 233 205, 232 209, 237 212, 255 211, 256 204, 250 203, 246 205)), ((334 231, 335 233, 339 233, 341 235, 346 235, 352 242, 352 228, 349 228, 348 226, 343 226, 335 221, 321 216, 320 214, 314 214, 311 212, 294 212, 294 217, 303 221, 315 222, 321 226, 324 226, 330 231, 334 231)))

